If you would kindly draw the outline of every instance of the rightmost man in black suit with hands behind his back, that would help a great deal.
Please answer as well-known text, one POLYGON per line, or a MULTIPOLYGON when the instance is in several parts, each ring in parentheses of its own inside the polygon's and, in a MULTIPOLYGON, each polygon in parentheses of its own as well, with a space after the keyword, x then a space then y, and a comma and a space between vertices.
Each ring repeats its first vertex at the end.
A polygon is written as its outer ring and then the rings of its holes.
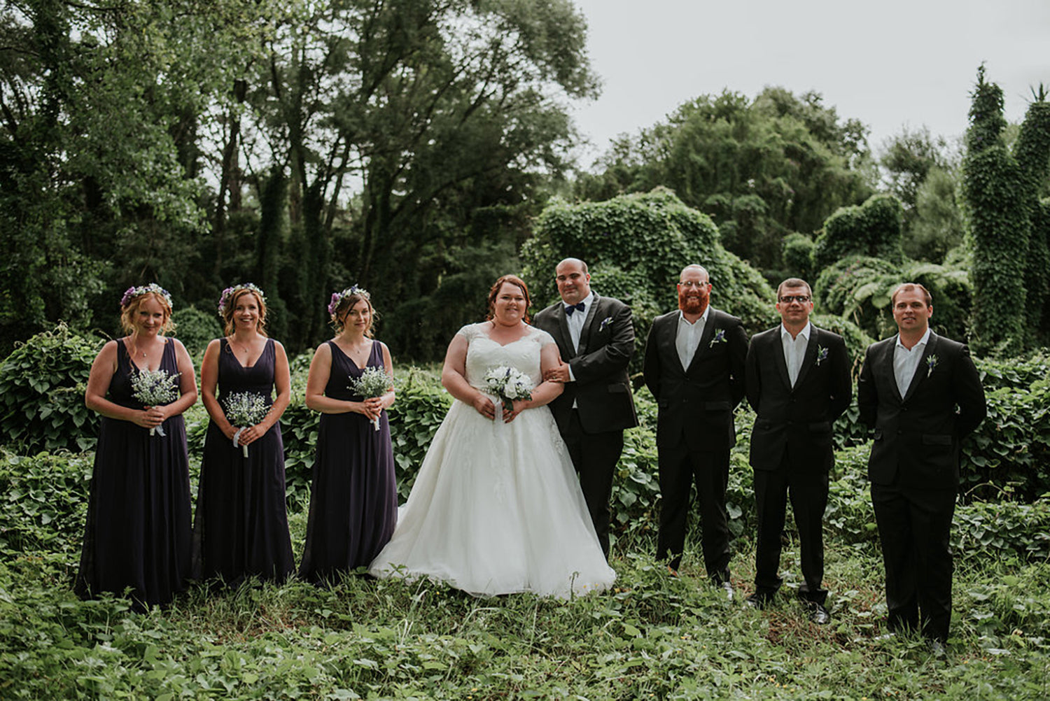
POLYGON ((920 629, 943 653, 951 620, 948 536, 959 489, 959 444, 984 420, 969 349, 929 328, 933 301, 905 282, 890 298, 898 334, 873 343, 858 385, 875 428, 867 474, 886 568, 889 629, 920 629))

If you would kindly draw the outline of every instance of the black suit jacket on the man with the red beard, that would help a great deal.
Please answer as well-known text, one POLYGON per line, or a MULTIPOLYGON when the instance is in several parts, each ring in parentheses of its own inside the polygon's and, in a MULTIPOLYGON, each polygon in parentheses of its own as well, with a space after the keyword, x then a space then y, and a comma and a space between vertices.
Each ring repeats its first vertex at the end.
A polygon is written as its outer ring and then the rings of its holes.
POLYGON ((656 445, 682 437, 690 450, 729 450, 736 442, 733 409, 743 399, 748 334, 743 323, 714 307, 689 367, 674 340, 678 312, 653 320, 646 341, 646 385, 656 399, 656 445))

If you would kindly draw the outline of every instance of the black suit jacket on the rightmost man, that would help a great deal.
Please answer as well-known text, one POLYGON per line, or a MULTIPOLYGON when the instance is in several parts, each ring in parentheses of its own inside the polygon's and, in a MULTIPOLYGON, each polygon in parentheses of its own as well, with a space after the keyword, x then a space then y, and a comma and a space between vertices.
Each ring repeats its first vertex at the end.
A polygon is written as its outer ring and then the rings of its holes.
POLYGON ((919 368, 901 397, 894 379, 897 337, 867 347, 858 383, 861 419, 875 428, 867 463, 875 484, 957 489, 959 444, 987 413, 969 349, 930 334, 919 368))

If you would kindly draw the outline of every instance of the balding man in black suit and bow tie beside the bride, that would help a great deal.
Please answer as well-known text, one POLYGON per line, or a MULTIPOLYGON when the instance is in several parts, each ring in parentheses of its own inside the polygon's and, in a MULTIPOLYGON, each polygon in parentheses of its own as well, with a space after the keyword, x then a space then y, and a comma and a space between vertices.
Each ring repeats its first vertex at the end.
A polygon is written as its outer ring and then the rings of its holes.
POLYGON ((536 326, 554 337, 562 364, 543 379, 565 384, 549 406, 608 558, 612 475, 624 448, 624 429, 637 426, 627 374, 634 353, 631 309, 591 292, 587 263, 579 258, 558 263, 554 275, 562 301, 537 314, 536 326))

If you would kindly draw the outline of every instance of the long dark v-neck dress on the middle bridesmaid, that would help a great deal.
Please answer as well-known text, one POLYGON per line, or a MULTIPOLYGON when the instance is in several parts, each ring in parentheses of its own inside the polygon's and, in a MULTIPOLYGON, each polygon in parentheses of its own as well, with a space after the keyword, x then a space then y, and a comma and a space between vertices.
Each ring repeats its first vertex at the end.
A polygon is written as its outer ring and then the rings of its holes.
MULTIPOLYGON (((276 344, 268 339, 251 367, 224 338, 218 352, 218 402, 252 392, 273 403, 276 344)), ((295 569, 285 506, 285 443, 280 423, 244 449, 208 424, 193 523, 193 578, 218 577, 230 587, 245 577, 284 581, 295 569)))

